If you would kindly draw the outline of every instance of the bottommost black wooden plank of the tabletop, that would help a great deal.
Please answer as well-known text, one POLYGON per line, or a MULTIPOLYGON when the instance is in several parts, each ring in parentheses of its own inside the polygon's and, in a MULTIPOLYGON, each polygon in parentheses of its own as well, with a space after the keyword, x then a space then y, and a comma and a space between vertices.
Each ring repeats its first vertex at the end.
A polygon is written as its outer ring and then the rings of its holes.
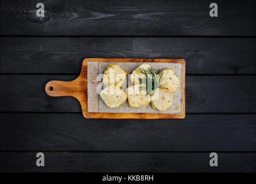
POLYGON ((45 152, 44 167, 37 152, 1 152, 1 172, 255 172, 256 153, 218 153, 210 167, 210 152, 45 152))

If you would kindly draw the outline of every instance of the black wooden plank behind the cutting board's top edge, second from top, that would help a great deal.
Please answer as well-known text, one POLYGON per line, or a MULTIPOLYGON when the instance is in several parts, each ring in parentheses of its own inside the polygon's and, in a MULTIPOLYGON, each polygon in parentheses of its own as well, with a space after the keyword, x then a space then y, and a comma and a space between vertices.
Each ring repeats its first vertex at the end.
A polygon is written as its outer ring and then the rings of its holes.
POLYGON ((85 57, 184 58, 187 74, 256 74, 255 38, 2 37, 1 73, 79 74, 85 57))

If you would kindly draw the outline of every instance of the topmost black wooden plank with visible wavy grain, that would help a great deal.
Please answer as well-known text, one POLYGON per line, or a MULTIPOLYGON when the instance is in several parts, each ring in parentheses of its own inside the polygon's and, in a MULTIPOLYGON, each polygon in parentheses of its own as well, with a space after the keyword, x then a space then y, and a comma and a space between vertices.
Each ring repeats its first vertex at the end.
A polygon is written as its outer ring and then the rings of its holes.
POLYGON ((255 1, 1 1, 1 34, 255 36, 255 1))

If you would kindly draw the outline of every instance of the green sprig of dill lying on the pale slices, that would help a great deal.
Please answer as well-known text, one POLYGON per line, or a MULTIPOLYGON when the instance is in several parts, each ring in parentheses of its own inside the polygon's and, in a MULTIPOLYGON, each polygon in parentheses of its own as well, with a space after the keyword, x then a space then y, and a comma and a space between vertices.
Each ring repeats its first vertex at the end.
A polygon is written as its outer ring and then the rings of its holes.
POLYGON ((154 94, 154 90, 162 86, 164 71, 158 70, 157 74, 155 74, 153 67, 147 69, 139 68, 139 71, 144 75, 143 78, 139 78, 139 82, 142 84, 140 90, 146 91, 150 95, 154 94))

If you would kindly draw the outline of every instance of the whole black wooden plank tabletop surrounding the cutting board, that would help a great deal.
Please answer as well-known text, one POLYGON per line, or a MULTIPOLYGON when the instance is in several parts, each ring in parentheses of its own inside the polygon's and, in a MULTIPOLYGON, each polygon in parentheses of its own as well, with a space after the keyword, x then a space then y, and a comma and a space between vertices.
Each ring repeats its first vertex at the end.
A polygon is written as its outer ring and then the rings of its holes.
POLYGON ((214 18, 207 0, 40 2, 38 18, 1 1, 0 171, 256 171, 255 1, 214 1, 214 18), (184 58, 185 119, 85 119, 44 93, 85 57, 184 58))

